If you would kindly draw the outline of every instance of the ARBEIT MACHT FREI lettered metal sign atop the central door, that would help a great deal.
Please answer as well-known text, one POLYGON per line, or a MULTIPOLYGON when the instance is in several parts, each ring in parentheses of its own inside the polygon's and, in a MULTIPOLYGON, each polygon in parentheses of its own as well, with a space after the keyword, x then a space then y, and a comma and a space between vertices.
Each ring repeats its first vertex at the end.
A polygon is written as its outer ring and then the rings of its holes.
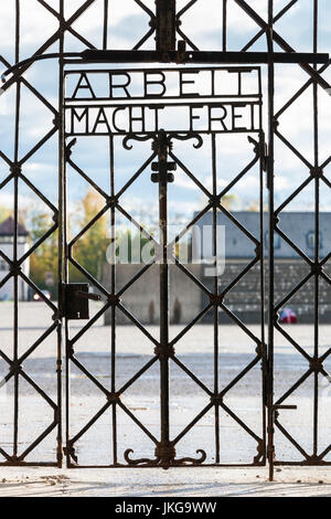
POLYGON ((259 131, 259 67, 65 73, 66 136, 259 131))

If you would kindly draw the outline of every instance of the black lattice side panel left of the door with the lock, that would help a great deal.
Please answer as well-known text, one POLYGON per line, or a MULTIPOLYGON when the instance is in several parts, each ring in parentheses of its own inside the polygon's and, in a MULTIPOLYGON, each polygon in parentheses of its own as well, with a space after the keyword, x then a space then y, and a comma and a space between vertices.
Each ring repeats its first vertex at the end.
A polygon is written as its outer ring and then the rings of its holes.
MULTIPOLYGON (((18 65, 20 62, 21 55, 21 39, 20 39, 20 25, 21 25, 21 6, 20 1, 15 0, 14 2, 15 8, 15 19, 14 19, 14 27, 15 27, 15 35, 14 35, 14 62, 18 65)), ((1 63, 10 67, 10 64, 0 56, 1 63)), ((58 215, 61 211, 53 205, 53 203, 25 177, 23 173, 23 169, 25 167, 25 162, 29 160, 33 153, 35 153, 43 144, 52 137, 56 133, 56 128, 54 127, 51 131, 49 131, 34 147, 32 147, 25 156, 20 158, 20 144, 21 144, 21 134, 20 134, 20 124, 21 124, 21 108, 22 108, 22 86, 26 87, 33 95, 35 95, 49 109, 51 109, 54 116, 57 116, 57 112, 49 104, 47 99, 39 93, 32 84, 26 81, 20 72, 18 78, 12 78, 3 87, 1 88, 1 94, 6 92, 11 85, 15 87, 15 121, 14 121, 14 136, 13 136, 13 158, 11 159, 7 153, 0 150, 0 158, 7 163, 10 174, 4 178, 4 180, 0 184, 0 189, 7 187, 10 181, 13 181, 13 250, 12 250, 12 258, 7 256, 3 251, 0 250, 0 256, 6 262, 9 267, 9 274, 1 280, 0 286, 4 286, 7 282, 11 278, 13 279, 13 329, 12 329, 12 353, 11 356, 6 353, 0 346, 0 357, 6 364, 8 364, 8 374, 1 381, 1 386, 7 384, 13 379, 13 436, 11 442, 8 442, 12 445, 12 453, 8 452, 8 448, 0 447, 0 454, 4 458, 3 463, 0 465, 19 465, 19 466, 28 466, 28 465, 44 465, 44 466, 61 466, 62 465, 62 430, 61 430, 61 362, 62 362, 62 354, 61 354, 61 333, 62 333, 62 325, 60 320, 60 311, 58 307, 50 301, 41 289, 29 278, 22 271, 22 265, 24 261, 29 260, 31 254, 46 240, 50 235, 56 232, 58 229, 58 215), (52 211, 53 215, 53 225, 51 229, 42 235, 29 250, 19 256, 18 250, 18 240, 19 240, 19 184, 23 184, 29 187, 34 194, 42 200, 49 209, 52 211), (32 289, 35 294, 39 295, 41 300, 53 311, 53 320, 49 322, 47 328, 45 331, 33 341, 32 345, 25 347, 25 351, 23 353, 19 352, 19 283, 24 282, 30 289, 32 289), (38 348, 41 347, 43 341, 51 336, 51 333, 56 333, 57 336, 57 351, 56 351, 56 375, 57 379, 57 393, 56 393, 56 401, 54 401, 53 396, 46 394, 46 392, 28 374, 26 371, 23 370, 23 362, 30 360, 32 354, 35 352, 38 348), (22 442, 20 439, 20 434, 24 432, 24 425, 19 417, 20 409, 22 404, 20 404, 20 395, 22 391, 20 391, 20 382, 25 381, 30 388, 32 388, 35 393, 41 396, 44 403, 46 403, 53 413, 53 420, 49 424, 49 426, 39 434, 32 442, 28 443, 26 446, 23 448, 21 444, 26 442, 22 442), (55 456, 54 462, 45 462, 42 457, 38 460, 26 460, 26 457, 34 449, 45 439, 53 431, 56 431, 56 445, 54 448, 55 456)), ((60 72, 61 74, 61 72, 60 72)), ((61 83, 61 82, 60 82, 61 83)), ((60 105, 61 105, 61 96, 60 96, 60 105)), ((61 178, 61 176, 58 177, 61 178)), ((60 248, 61 251, 61 248, 60 248)), ((61 253, 60 253, 61 256, 61 253)), ((6 345, 3 345, 6 347, 6 345)))

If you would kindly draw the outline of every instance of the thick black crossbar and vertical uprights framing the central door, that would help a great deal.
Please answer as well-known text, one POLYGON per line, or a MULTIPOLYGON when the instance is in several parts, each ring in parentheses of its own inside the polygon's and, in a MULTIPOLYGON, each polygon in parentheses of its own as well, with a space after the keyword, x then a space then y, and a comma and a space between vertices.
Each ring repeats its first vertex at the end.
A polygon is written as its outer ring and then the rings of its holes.
MULTIPOLYGON (((29 68, 29 66, 38 60, 49 59, 49 57, 56 57, 58 59, 58 117, 57 117, 57 129, 58 129, 58 193, 60 193, 60 203, 58 203, 58 251, 63 252, 65 246, 65 225, 63 221, 63 211, 65 211, 65 206, 63 205, 64 202, 64 150, 61 147, 61 142, 64 135, 64 118, 62 113, 62 105, 63 105, 63 72, 64 72, 64 64, 68 59, 83 59, 89 62, 102 61, 107 63, 125 63, 126 60, 130 63, 134 62, 141 62, 141 63, 214 63, 214 64, 224 64, 224 63, 259 63, 259 64, 267 64, 268 67, 268 156, 267 156, 267 183, 269 189, 269 236, 274 235, 275 232, 279 233, 279 229, 277 227, 277 214, 275 213, 275 203, 274 203, 274 149, 275 149, 275 135, 279 137, 277 131, 277 118, 275 117, 275 106, 274 106, 274 88, 275 88, 275 63, 298 63, 307 72, 310 76, 309 84, 313 84, 313 107, 314 107, 314 121, 313 121, 313 130, 314 130, 314 166, 311 169, 311 174, 314 178, 316 184, 316 193, 319 190, 319 183, 322 180, 325 181, 323 178, 323 166, 329 163, 329 160, 322 165, 319 165, 319 153, 318 153, 318 120, 316 118, 317 109, 318 109, 318 86, 320 85, 324 89, 330 89, 329 83, 323 80, 321 73, 330 65, 329 56, 327 54, 318 54, 318 0, 313 1, 313 53, 302 54, 297 53, 290 45, 287 44, 281 36, 274 31, 274 23, 277 19, 281 18, 284 12, 292 7, 296 1, 289 2, 288 6, 284 8, 284 10, 278 13, 275 18, 274 15, 274 1, 268 0, 268 21, 265 22, 255 11, 253 8, 248 6, 245 0, 235 0, 236 3, 242 7, 242 9, 250 17, 259 27, 260 27, 260 34, 264 32, 267 36, 267 45, 268 52, 267 53, 247 53, 246 49, 245 52, 241 53, 231 53, 226 50, 226 31, 223 33, 223 52, 200 52, 193 50, 192 52, 185 51, 185 44, 179 42, 178 50, 174 49, 175 46, 175 32, 178 32, 182 38, 183 41, 191 43, 190 40, 181 32, 180 30, 180 15, 182 12, 178 13, 175 10, 175 0, 166 1, 166 0, 157 0, 157 17, 151 17, 151 29, 149 31, 149 35, 156 30, 157 33, 157 50, 156 51, 106 51, 107 49, 107 19, 108 19, 108 0, 105 0, 105 13, 104 13, 104 49, 103 51, 83 51, 83 53, 65 53, 64 52, 64 34, 70 23, 64 19, 64 0, 60 0, 60 11, 58 11, 58 33, 57 36, 54 39, 60 41, 60 52, 53 54, 38 54, 33 55, 31 59, 24 60, 23 62, 19 61, 19 0, 17 0, 17 35, 15 35, 15 65, 8 68, 8 71, 3 74, 2 80, 6 80, 7 75, 10 73, 15 73, 12 78, 10 78, 1 88, 1 93, 3 93, 7 88, 11 86, 14 82, 18 81, 18 94, 17 94, 17 103, 20 103, 20 92, 19 92, 19 81, 21 75, 29 68), (274 52, 274 43, 279 44, 284 53, 275 53, 274 52), (256 61, 254 61, 256 60, 256 61), (313 67, 309 65, 309 63, 313 64, 313 67), (317 64, 323 64, 323 66, 318 70, 317 64)), ((93 2, 93 0, 92 0, 93 2)), ((89 1, 89 3, 92 3, 89 1)), ((88 3, 88 2, 86 2, 88 3)), ((191 2, 189 2, 190 4, 191 2)), ((194 2, 193 2, 194 3, 194 2)), ((190 7, 189 7, 190 8, 190 7)), ((84 12, 85 4, 82 6, 81 11, 84 12)), ((81 12, 81 13, 82 13, 81 12)), ((223 21, 226 21, 226 0, 223 1, 223 21)), ((259 35, 260 35, 259 34, 259 35)), ((146 41, 146 38, 142 39, 146 41)), ((139 42, 141 43, 141 42, 139 42)), ((247 45, 246 45, 247 46, 247 45)), ((47 49, 47 45, 41 51, 47 49)), ((67 61, 68 62, 68 61, 67 61)), ((82 63, 82 61, 79 61, 82 63)), ((17 114, 17 124, 15 124, 15 131, 18 133, 18 125, 19 125, 19 115, 17 114)), ((18 146, 18 136, 15 137, 15 146, 18 146)), ((20 167, 21 163, 18 160, 18 153, 15 153, 14 161, 11 162, 6 160, 11 170, 12 176, 14 178, 15 186, 18 183, 18 179, 21 174, 20 167)), ((17 197, 18 192, 15 189, 15 209, 14 209, 14 220, 15 220, 15 229, 18 227, 18 206, 17 206, 17 197)), ((293 198, 293 197, 292 197, 293 198)), ((316 230, 319 229, 319 199, 316 198, 316 230)), ((17 244, 18 234, 15 231, 14 243, 17 244)), ((268 412, 268 460, 269 460, 269 478, 273 479, 274 477, 274 465, 275 465, 275 447, 274 447, 274 425, 275 425, 275 414, 278 413, 277 410, 279 409, 288 409, 289 406, 284 406, 280 404, 274 403, 274 329, 275 325, 277 324, 277 306, 275 306, 275 286, 274 286, 274 243, 273 240, 269 240, 269 308, 268 308, 268 356, 267 356, 267 412, 268 412), (276 320, 275 320, 276 319, 276 320)), ((314 254, 314 262, 311 265, 312 275, 314 278, 314 356, 312 359, 311 371, 314 372, 314 410, 317 409, 318 404, 318 374, 322 372, 321 360, 318 354, 318 313, 319 313, 319 279, 322 275, 322 266, 323 262, 320 262, 319 258, 319 237, 317 232, 317 240, 316 240, 316 254, 314 254)), ((14 248, 17 246, 14 245, 14 248)), ((327 258, 330 255, 327 256, 327 258)), ((8 258, 6 258, 8 261, 8 258)), ((15 283, 20 275, 18 271, 17 261, 8 263, 11 265, 12 274, 14 276, 15 283)), ((63 316, 64 307, 63 307, 63 285, 67 283, 66 275, 63 269, 63 255, 61 254, 61 258, 58 261, 58 279, 60 279, 60 297, 58 297, 58 348, 57 348, 57 380, 58 380, 58 410, 57 410, 57 419, 58 420, 58 437, 57 437, 57 464, 61 466, 61 442, 62 442, 62 433, 61 433, 61 352, 62 352, 62 339, 61 339, 61 319, 63 316), (63 277, 64 276, 64 277, 63 277)), ((14 301, 15 308, 15 316, 18 314, 18 300, 15 298, 14 301)), ((17 333, 17 318, 14 321, 14 332, 17 333)), ((17 362, 18 356, 15 353, 14 362, 17 362)), ((11 370, 14 369, 14 380, 15 380, 15 393, 18 395, 18 386, 17 386, 17 379, 19 374, 20 367, 11 363, 11 370)), ((18 414, 18 406, 17 406, 17 399, 15 399, 15 411, 14 414, 18 414)), ((317 455, 317 432, 318 432, 318 421, 317 421, 317 413, 314 412, 314 424, 313 424, 313 435, 314 435, 314 447, 313 447, 313 456, 307 459, 306 465, 324 465, 325 462, 322 460, 322 455, 317 455)), ((18 435, 18 423, 15 420, 14 426, 14 451, 17 449, 17 435, 18 435)), ((331 446, 325 449, 325 453, 331 449, 331 446)), ((17 458, 14 455, 6 464, 10 465, 22 465, 24 464, 23 460, 17 458)), ((282 464, 277 462, 277 464, 282 464)), ((297 464, 298 465, 298 464, 297 464)))

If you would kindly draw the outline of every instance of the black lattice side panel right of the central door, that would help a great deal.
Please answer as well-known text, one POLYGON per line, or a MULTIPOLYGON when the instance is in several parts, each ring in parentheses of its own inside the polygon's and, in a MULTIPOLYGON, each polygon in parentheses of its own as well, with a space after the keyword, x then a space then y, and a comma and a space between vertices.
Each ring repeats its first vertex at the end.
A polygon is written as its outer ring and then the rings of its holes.
MULTIPOLYGON (((312 19, 312 52, 317 55, 318 53, 318 35, 319 35, 319 1, 313 0, 311 2, 311 19, 312 19)), ((271 6, 269 7, 269 20, 273 15, 271 6)), ((270 41, 277 42, 279 36, 274 34, 270 35, 270 41)), ((285 44, 282 45, 285 46, 285 44)), ((306 262, 309 266, 310 272, 308 275, 297 285, 295 286, 289 294, 285 295, 280 301, 275 300, 274 295, 274 255, 270 254, 270 308, 269 308, 269 401, 268 401, 268 426, 269 426, 269 469, 270 469, 270 479, 274 477, 274 466, 275 465, 308 465, 308 466, 318 466, 318 465, 330 465, 331 462, 327 460, 327 456, 331 451, 331 445, 329 447, 319 452, 319 375, 325 377, 330 381, 330 375, 325 371, 323 367, 323 362, 330 358, 330 349, 328 349, 323 354, 320 351, 320 338, 319 338, 319 319, 320 319, 320 280, 323 279, 328 285, 331 285, 330 274, 325 272, 324 266, 328 260, 331 257, 331 254, 327 254, 323 258, 320 255, 320 193, 321 188, 327 187, 330 189, 331 184, 328 178, 324 176, 324 169, 330 163, 331 157, 327 160, 321 162, 320 158, 320 131, 319 131, 319 100, 318 100, 318 93, 320 87, 330 92, 330 84, 321 77, 321 74, 330 66, 330 61, 328 61, 323 66, 318 68, 317 64, 312 65, 311 67, 302 66, 303 70, 309 74, 310 78, 306 82, 298 92, 290 97, 287 103, 277 112, 275 113, 273 106, 273 87, 270 87, 270 114, 269 114, 269 138, 270 144, 273 146, 274 136, 280 139, 285 146, 290 149, 296 157, 302 162, 303 167, 308 169, 309 176, 307 179, 296 189, 293 193, 291 193, 277 209, 274 206, 274 193, 275 189, 273 187, 271 194, 270 194, 270 202, 269 202, 269 211, 270 211, 270 222, 269 229, 270 234, 276 233, 278 234, 284 241, 286 241, 295 251, 296 253, 306 262), (285 114, 292 105, 295 100, 297 100, 310 86, 312 86, 312 108, 313 115, 311 120, 311 127, 313 129, 313 161, 307 160, 305 158, 305 150, 300 151, 297 146, 290 142, 284 136, 282 131, 280 130, 280 123, 279 117, 285 114), (309 186, 310 183, 313 184, 314 189, 314 246, 313 246, 313 258, 309 258, 303 251, 301 251, 292 240, 286 235, 279 229, 279 216, 281 216, 281 211, 286 210, 288 204, 296 199, 305 189, 305 187, 309 186), (278 321, 278 311, 281 306, 287 304, 292 296, 298 294, 298 292, 305 287, 306 283, 309 279, 313 279, 313 294, 312 294, 312 306, 313 306, 313 353, 312 356, 308 354, 303 348, 300 347, 296 342, 296 340, 291 337, 290 333, 286 332, 282 327, 279 325, 278 321), (280 332, 289 343, 296 349, 296 351, 301 354, 308 362, 307 371, 300 377, 295 384, 292 384, 281 396, 279 396, 276 402, 274 402, 274 330, 280 332), (312 419, 312 449, 311 452, 307 452, 302 445, 290 434, 287 427, 280 422, 280 411, 284 410, 292 410, 293 411, 293 420, 296 414, 296 405, 291 404, 291 396, 293 395, 295 391, 302 386, 306 380, 312 377, 313 378, 313 394, 311 395, 313 401, 313 419, 312 419), (289 403, 289 405, 287 404, 289 403), (277 452, 275 453, 274 447, 274 434, 275 428, 281 432, 281 434, 289 441, 289 443, 295 447, 295 449, 302 456, 302 462, 293 462, 291 459, 281 460, 277 458, 277 452)), ((275 71, 273 71, 273 64, 269 65, 269 85, 274 85, 275 82, 275 71)), ((270 152, 270 157, 273 153, 270 152)), ((270 171, 273 170, 273 163, 269 165, 270 171)), ((269 180, 271 182, 271 179, 269 180)), ((285 411, 286 413, 289 411, 285 411)))

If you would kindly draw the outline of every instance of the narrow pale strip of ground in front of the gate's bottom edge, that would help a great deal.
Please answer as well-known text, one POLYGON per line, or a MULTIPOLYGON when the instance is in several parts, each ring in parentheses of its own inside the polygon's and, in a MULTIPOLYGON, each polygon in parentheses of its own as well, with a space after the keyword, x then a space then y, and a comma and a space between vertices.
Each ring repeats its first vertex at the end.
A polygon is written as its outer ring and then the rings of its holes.
POLYGON ((331 497, 331 469, 0 468, 0 497, 331 497), (2 483, 1 483, 2 481, 2 483))

